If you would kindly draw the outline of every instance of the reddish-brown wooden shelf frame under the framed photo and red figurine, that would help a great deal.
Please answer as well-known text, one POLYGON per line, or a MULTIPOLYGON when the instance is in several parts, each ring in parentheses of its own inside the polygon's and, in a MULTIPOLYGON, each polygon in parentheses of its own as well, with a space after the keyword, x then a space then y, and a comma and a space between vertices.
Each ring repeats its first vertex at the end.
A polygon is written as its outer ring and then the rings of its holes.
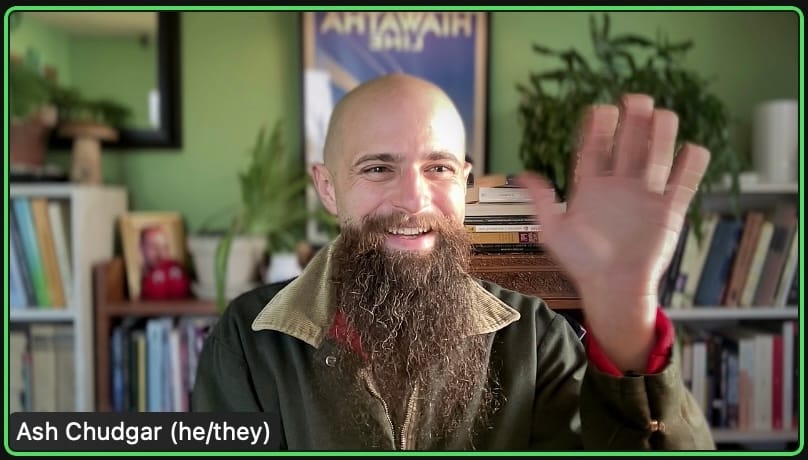
POLYGON ((111 407, 110 336, 113 326, 122 318, 155 316, 215 316, 216 303, 194 298, 172 300, 129 301, 125 295, 125 266, 115 258, 93 267, 95 290, 96 343, 96 410, 108 412, 111 407))

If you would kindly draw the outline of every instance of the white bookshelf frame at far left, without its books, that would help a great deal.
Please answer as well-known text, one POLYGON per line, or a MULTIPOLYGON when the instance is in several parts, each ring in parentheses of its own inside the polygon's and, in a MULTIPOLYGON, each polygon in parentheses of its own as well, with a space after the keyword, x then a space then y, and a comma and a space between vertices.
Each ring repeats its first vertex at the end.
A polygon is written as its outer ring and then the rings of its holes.
POLYGON ((30 305, 9 309, 11 324, 70 323, 73 326, 75 410, 95 409, 92 266, 114 254, 116 223, 128 202, 123 187, 62 183, 11 184, 9 198, 45 197, 69 203, 71 295, 64 308, 30 305))

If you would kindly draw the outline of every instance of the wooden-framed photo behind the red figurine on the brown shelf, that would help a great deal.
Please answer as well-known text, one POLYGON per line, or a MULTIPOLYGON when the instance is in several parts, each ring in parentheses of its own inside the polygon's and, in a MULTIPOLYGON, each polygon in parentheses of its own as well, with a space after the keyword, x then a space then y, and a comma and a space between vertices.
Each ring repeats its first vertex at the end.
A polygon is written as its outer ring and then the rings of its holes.
POLYGON ((120 219, 129 297, 139 300, 143 277, 161 262, 185 266, 185 234, 177 212, 130 212, 120 219))

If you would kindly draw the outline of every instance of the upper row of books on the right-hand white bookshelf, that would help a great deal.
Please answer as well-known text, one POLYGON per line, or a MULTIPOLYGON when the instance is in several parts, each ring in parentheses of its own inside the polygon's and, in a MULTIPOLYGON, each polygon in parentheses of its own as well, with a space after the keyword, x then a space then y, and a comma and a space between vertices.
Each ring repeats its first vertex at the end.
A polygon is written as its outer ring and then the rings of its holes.
POLYGON ((702 237, 685 223, 660 299, 671 308, 796 307, 799 304, 799 216, 792 204, 743 217, 706 213, 702 237))

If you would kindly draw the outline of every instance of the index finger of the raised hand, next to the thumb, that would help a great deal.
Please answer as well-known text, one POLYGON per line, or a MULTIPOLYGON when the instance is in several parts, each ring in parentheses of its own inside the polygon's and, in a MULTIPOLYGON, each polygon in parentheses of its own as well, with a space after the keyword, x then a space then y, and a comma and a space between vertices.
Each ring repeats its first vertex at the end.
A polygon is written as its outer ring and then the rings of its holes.
POLYGON ((589 108, 581 124, 581 141, 575 168, 575 181, 584 176, 596 176, 611 169, 614 130, 620 111, 613 105, 589 108))

